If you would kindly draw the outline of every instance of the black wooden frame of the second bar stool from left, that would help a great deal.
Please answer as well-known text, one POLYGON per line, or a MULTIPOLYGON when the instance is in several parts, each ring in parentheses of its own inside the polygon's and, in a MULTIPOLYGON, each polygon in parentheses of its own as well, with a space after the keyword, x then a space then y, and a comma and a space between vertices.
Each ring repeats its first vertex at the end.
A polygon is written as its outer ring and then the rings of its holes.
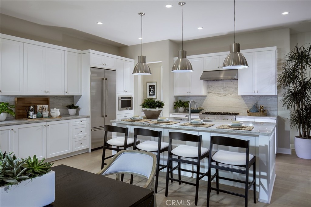
MULTIPOLYGON (((161 141, 162 141, 162 132, 161 131, 154 131, 151 129, 144 129, 144 128, 134 128, 134 150, 141 150, 137 148, 137 135, 140 136, 147 136, 147 137, 158 137, 158 149, 156 151, 148 151, 148 152, 156 152, 157 161, 156 161, 156 187, 155 193, 158 192, 158 181, 159 181, 159 172, 162 169, 166 168, 166 165, 160 164, 160 154, 162 152, 168 151, 169 147, 165 147, 161 149, 161 141)), ((142 142, 143 143, 143 142, 142 142)))

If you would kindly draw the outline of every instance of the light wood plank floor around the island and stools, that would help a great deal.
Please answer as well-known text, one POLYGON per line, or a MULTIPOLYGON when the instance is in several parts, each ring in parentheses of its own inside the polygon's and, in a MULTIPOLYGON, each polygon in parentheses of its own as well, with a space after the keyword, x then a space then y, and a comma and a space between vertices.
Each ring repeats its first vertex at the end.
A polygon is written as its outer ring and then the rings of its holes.
MULTIPOLYGON (((74 168, 86 170, 92 173, 100 171, 102 150, 76 155, 63 160, 54 161, 54 165, 65 164, 74 168)), ((109 153, 109 152, 108 152, 109 153)), ((110 152, 111 153, 111 152, 110 152)), ((184 177, 187 181, 194 178, 184 177)), ((127 179, 128 180, 128 179, 127 179)), ((139 178, 135 178, 134 184, 140 185, 139 178)), ((243 189, 224 186, 223 188, 243 193, 243 189)), ((195 187, 187 184, 178 185, 178 182, 169 183, 169 194, 165 197, 165 173, 160 172, 158 193, 156 194, 157 206, 194 206, 195 187), (182 203, 181 203, 182 202, 182 203), (190 204, 190 205, 189 205, 190 204)), ((198 207, 206 206, 207 181, 200 181, 198 207)), ((258 192, 257 192, 258 199, 258 192)), ((225 193, 216 194, 211 191, 210 206, 244 206, 244 198, 225 193)), ((311 160, 300 159, 295 151, 292 155, 276 155, 276 181, 270 204, 253 203, 253 191, 249 191, 249 207, 310 207, 311 206, 311 160)))

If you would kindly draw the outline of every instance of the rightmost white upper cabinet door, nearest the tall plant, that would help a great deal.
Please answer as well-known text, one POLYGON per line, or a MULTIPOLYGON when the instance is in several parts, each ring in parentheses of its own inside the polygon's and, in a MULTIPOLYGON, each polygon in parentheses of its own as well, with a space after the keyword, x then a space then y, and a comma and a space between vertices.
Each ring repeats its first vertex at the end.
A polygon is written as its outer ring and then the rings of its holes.
POLYGON ((277 95, 275 50, 256 52, 256 95, 277 95))

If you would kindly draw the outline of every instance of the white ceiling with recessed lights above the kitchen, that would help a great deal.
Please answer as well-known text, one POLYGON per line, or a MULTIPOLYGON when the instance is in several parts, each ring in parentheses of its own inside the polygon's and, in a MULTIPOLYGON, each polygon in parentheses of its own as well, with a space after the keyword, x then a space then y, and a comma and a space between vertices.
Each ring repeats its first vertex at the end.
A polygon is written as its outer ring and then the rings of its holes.
MULTIPOLYGON (((14 1, 1 0, 2 14, 41 25, 72 28, 124 45, 170 39, 181 41, 179 1, 14 1), (166 8, 165 4, 173 7, 166 8), (97 25, 101 21, 103 25, 97 25)), ((183 40, 234 33, 234 1, 185 0, 183 40), (203 27, 204 29, 197 29, 203 27)), ((311 31, 311 0, 236 0, 236 32, 269 28, 311 31), (290 14, 282 15, 284 11, 290 14)), ((239 42, 239 40, 237 40, 239 42)))

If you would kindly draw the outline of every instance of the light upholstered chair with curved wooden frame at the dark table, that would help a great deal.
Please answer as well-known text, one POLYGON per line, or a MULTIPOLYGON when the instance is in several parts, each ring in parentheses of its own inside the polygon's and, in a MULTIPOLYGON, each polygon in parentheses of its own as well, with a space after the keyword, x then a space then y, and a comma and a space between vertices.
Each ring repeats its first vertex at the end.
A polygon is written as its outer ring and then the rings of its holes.
MULTIPOLYGON (((156 174, 156 155, 151 152, 137 150, 121 150, 110 162, 97 174, 108 176, 113 174, 134 174, 147 181, 144 188, 154 191, 154 177, 156 174)), ((119 176, 117 177, 119 179, 119 176)), ((154 206, 156 206, 156 194, 154 192, 154 206)))

